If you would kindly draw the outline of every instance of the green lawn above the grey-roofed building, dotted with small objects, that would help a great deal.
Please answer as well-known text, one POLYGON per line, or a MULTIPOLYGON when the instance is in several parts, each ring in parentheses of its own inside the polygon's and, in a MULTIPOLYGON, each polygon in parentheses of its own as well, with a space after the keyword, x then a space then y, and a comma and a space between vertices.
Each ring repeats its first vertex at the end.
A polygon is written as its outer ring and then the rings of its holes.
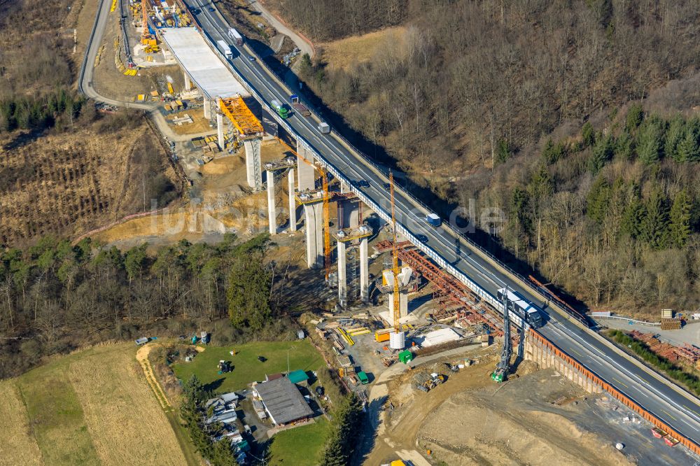
POLYGON ((186 381, 197 374, 202 383, 211 383, 211 388, 220 392, 230 392, 246 388, 248 383, 265 380, 265 374, 276 374, 289 369, 315 371, 323 367, 323 357, 307 340, 300 341, 254 341, 241 345, 207 346, 191 362, 178 362, 173 370, 179 379, 186 381), (229 351, 235 350, 232 356, 229 351), (264 356, 267 361, 258 361, 264 356), (220 360, 231 361, 233 370, 228 374, 218 374, 220 360))

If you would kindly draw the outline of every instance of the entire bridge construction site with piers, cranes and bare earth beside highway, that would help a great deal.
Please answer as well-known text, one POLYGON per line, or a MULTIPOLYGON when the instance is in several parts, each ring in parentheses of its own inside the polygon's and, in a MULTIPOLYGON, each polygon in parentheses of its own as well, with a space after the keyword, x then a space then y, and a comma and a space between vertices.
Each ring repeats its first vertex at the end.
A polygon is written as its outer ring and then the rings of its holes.
MULTIPOLYGON (((495 301, 484 299, 429 257, 420 246, 428 238, 416 241, 397 220, 391 171, 381 208, 358 193, 367 181, 334 173, 288 121, 294 115, 315 136, 329 134, 328 124, 295 94, 291 105, 267 104, 235 78, 235 47, 205 41, 192 10, 177 2, 115 4, 120 20, 108 29, 115 58, 106 60, 102 45, 95 87, 154 115, 188 204, 153 206, 150 216, 93 236, 130 247, 267 231, 295 283, 286 292, 290 309, 312 311, 302 318, 308 334, 342 386, 366 403, 367 428, 377 435, 363 446, 367 464, 397 456, 414 465, 688 458, 672 430, 650 450, 659 425, 613 401, 601 381, 581 376, 559 353, 542 358, 526 346, 544 322, 521 295, 505 286, 495 301), (109 62, 102 71, 101 60, 109 62), (106 84, 115 69, 119 80, 106 84), (493 429, 483 430, 485 418, 493 429)), ((266 69, 234 28, 229 38, 266 69)), ((430 215, 421 221, 440 227, 430 215)))

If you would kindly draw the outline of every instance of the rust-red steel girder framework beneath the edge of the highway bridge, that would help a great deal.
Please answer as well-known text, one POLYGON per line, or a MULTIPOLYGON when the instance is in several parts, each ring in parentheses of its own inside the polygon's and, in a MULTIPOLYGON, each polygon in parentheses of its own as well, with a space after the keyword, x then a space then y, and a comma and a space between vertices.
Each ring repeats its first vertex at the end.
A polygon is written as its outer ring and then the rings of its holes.
MULTIPOLYGON (((379 241, 374 247, 384 252, 391 250, 391 246, 391 241, 379 241)), ((396 246, 401 262, 419 272, 432 285, 433 297, 441 308, 442 316, 455 313, 458 318, 465 318, 473 325, 486 325, 491 330, 491 334, 499 337, 503 335, 500 318, 486 304, 479 302, 479 298, 464 283, 421 255, 409 241, 402 241, 396 246)))

